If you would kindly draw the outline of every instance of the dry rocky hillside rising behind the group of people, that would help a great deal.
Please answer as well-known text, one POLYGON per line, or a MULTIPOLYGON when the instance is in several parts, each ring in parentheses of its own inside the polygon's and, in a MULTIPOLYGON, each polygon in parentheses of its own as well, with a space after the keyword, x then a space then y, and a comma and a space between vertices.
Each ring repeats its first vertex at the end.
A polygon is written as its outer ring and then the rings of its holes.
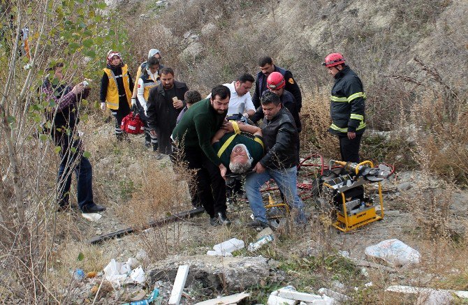
POLYGON ((293 71, 305 93, 328 91, 321 62, 337 51, 363 79, 374 128, 391 128, 428 90, 454 91, 466 103, 467 1, 172 0, 118 7, 145 28, 129 29, 138 61, 158 47, 182 80, 205 91, 256 73, 263 54, 293 71))

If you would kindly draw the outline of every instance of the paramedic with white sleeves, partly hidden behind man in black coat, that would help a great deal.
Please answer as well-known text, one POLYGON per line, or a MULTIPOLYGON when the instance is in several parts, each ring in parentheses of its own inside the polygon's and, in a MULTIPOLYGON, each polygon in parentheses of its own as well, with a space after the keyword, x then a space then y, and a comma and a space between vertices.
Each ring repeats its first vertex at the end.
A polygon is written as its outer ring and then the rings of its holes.
POLYGON ((156 57, 150 57, 147 61, 145 70, 142 71, 141 76, 138 79, 138 100, 136 101, 136 107, 138 107, 140 119, 143 121, 143 124, 145 124, 145 147, 152 147, 153 151, 158 149, 158 138, 156 136, 152 137, 151 133, 149 133, 148 118, 146 117, 148 106, 146 102, 148 101, 149 90, 161 83, 159 80, 158 70, 159 59, 156 57))

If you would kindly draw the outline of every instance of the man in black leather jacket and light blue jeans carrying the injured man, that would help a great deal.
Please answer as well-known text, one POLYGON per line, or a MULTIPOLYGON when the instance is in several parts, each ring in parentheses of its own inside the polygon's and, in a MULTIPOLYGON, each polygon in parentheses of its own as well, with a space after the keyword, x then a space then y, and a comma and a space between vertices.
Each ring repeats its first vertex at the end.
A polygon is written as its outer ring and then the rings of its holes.
POLYGON ((298 196, 297 168, 295 157, 298 145, 298 130, 291 113, 281 105, 277 94, 266 92, 261 98, 265 118, 261 126, 266 154, 255 165, 255 172, 249 174, 245 181, 245 190, 254 221, 249 227, 266 228, 268 220, 263 206, 261 186, 268 180, 275 180, 286 202, 291 206, 296 223, 306 223, 304 204, 298 196))

